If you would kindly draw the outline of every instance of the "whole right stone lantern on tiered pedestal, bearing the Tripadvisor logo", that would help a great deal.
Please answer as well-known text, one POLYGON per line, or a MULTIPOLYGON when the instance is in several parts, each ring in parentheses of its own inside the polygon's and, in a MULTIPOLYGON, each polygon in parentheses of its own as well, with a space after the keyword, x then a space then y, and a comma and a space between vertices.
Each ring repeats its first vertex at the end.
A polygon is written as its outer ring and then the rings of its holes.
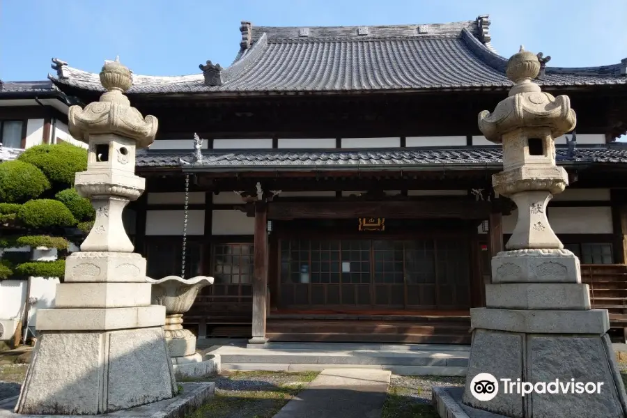
POLYGON ((508 251, 492 260, 486 308, 471 309, 464 408, 516 418, 627 417, 607 310, 590 309, 579 260, 546 216, 552 196, 568 185, 566 171, 555 164, 555 138, 573 130, 576 118, 566 95, 555 98, 534 83, 539 70, 537 56, 521 47, 507 65, 514 83, 509 97, 479 114, 481 132, 503 146, 503 171, 493 175, 493 187, 516 203, 518 222, 508 251), (512 387, 505 387, 507 379, 512 387), (556 379, 600 382, 601 391, 516 393, 517 382, 556 379), (496 381, 496 392, 482 392, 486 380, 496 381))

